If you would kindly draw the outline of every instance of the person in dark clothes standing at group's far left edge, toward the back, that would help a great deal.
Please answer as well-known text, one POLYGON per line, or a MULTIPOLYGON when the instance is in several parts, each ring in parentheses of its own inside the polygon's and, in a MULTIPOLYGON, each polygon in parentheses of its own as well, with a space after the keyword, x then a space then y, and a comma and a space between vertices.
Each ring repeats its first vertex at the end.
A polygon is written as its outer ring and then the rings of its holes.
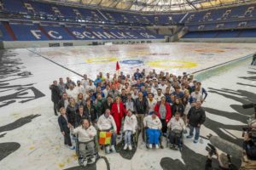
POLYGON ((55 116, 58 116, 57 109, 61 97, 61 90, 58 88, 58 82, 54 81, 52 85, 49 85, 49 89, 51 90, 51 101, 54 103, 55 116))

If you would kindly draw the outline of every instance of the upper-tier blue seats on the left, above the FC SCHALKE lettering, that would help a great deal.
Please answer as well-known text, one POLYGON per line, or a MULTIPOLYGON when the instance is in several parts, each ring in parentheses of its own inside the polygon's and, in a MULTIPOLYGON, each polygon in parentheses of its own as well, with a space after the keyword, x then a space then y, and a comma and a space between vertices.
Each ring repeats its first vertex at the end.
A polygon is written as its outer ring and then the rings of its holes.
POLYGON ((170 18, 169 15, 143 15, 128 12, 117 12, 110 10, 97 10, 89 8, 68 7, 55 5, 54 3, 39 3, 31 0, 0 0, 0 9, 2 12, 11 14, 38 15, 40 19, 94 21, 101 23, 137 23, 143 24, 161 24, 166 25, 177 22, 183 14, 177 14, 170 18), (79 20, 78 20, 79 19, 79 20), (171 20, 170 20, 171 19, 171 20))

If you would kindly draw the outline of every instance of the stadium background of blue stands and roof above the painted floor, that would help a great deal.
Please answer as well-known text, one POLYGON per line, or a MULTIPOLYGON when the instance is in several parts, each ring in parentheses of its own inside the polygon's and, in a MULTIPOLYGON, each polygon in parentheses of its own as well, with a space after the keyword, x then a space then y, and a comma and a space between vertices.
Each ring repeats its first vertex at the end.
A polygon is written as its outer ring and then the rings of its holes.
POLYGON ((253 1, 1 0, 0 14, 2 48, 20 41, 68 46, 120 40, 254 42, 256 37, 253 1))

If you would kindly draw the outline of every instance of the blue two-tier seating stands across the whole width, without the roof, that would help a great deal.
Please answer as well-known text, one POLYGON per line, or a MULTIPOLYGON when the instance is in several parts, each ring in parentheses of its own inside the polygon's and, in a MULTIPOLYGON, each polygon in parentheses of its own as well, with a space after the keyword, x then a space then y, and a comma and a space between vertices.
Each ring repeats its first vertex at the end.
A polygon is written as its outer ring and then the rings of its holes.
POLYGON ((2 17, 9 19, 1 21, 1 41, 164 39, 168 36, 158 34, 156 28, 149 31, 147 26, 182 26, 188 31, 182 39, 256 37, 255 3, 177 14, 84 8, 32 0, 1 0, 0 7, 2 17))

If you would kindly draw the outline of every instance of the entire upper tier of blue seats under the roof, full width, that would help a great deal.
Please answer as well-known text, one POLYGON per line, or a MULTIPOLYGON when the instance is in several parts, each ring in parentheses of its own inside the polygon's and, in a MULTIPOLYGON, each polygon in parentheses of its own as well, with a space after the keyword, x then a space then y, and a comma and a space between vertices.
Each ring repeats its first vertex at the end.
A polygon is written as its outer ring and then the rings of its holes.
MULTIPOLYGON (((256 16, 256 4, 230 8, 209 9, 188 14, 135 14, 128 12, 110 11, 106 9, 89 9, 55 5, 54 3, 39 3, 31 0, 0 0, 0 9, 7 13, 38 14, 65 19, 81 19, 114 23, 137 24, 172 24, 198 23, 206 21, 232 20, 252 18, 256 16)), ((44 18, 43 17, 43 18, 44 18)), ((49 18, 51 19, 51 18, 49 18)))

